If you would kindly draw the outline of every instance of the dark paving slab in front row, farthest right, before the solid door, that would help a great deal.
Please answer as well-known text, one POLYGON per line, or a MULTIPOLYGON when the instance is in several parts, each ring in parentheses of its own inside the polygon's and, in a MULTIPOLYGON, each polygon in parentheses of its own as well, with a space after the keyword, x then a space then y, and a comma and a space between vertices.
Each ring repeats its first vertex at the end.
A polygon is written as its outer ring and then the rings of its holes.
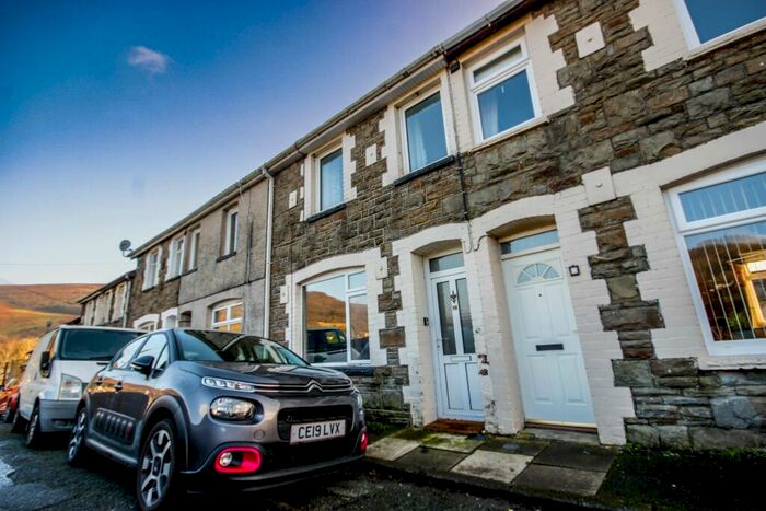
POLYGON ((513 480, 512 486, 591 497, 599 491, 605 477, 605 472, 532 463, 513 480))

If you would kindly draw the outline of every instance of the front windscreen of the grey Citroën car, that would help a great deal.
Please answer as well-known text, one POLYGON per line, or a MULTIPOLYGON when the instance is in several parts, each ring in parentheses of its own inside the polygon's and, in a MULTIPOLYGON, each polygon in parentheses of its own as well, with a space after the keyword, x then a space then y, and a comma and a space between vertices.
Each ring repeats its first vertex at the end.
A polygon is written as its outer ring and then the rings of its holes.
POLYGON ((196 362, 245 362, 309 365, 272 340, 228 332, 176 330, 181 358, 196 362))

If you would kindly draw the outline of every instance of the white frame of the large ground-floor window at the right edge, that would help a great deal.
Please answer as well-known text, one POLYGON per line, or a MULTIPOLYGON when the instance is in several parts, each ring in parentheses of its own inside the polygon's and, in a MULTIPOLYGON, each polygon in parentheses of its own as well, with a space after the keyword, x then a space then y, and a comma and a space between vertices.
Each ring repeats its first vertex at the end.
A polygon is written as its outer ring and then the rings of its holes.
POLYGON ((726 341, 713 340, 712 329, 710 328, 710 322, 707 313, 705 312, 705 304, 703 302, 703 297, 699 293, 697 277, 694 272, 694 267, 692 266, 692 258, 689 257, 685 237, 703 232, 724 228, 734 228, 759 220, 766 220, 766 207, 736 211, 722 214, 720 217, 688 222, 686 221, 686 217, 684 216, 684 210, 682 208, 681 194, 763 172, 766 172, 766 158, 764 156, 746 163, 734 165, 730 169, 695 179, 690 183, 676 186, 669 189, 665 194, 665 200, 671 212, 675 239, 678 246, 678 252, 681 254, 681 262, 684 267, 684 272, 686 274, 686 282, 688 283, 689 291, 692 292, 692 300, 703 329, 705 346, 708 353, 711 356, 764 355, 766 353, 766 339, 726 341))

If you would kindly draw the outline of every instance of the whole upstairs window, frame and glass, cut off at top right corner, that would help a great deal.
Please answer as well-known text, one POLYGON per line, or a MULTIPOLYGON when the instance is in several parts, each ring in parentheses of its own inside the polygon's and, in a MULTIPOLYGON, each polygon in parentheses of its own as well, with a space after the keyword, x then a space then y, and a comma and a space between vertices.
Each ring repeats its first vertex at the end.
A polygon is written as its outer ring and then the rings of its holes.
POLYGON ((720 0, 675 0, 675 4, 692 48, 750 25, 766 23, 766 1, 763 0, 736 0, 726 5, 720 0))

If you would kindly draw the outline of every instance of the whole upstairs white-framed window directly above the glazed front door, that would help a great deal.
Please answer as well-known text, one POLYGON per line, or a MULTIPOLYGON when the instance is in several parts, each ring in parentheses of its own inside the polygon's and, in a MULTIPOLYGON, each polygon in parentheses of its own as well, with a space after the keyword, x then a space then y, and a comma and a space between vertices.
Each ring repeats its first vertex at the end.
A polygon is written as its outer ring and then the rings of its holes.
POLYGON ((399 132, 405 173, 446 158, 446 129, 440 90, 418 94, 399 108, 399 132))

